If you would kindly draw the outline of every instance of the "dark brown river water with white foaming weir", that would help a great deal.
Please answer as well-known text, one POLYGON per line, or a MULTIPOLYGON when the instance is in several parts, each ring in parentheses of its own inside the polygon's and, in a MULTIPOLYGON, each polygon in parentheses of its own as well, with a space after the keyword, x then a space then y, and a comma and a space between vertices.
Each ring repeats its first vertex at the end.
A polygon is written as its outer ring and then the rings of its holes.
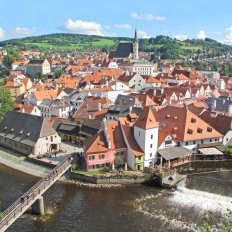
MULTIPOLYGON (((176 192, 148 186, 90 189, 59 182, 44 194, 45 216, 24 214, 7 231, 202 231, 205 212, 214 231, 222 231, 227 209, 232 208, 231 177, 232 172, 189 177, 176 192)), ((0 165, 2 209, 35 181, 35 177, 0 165)))

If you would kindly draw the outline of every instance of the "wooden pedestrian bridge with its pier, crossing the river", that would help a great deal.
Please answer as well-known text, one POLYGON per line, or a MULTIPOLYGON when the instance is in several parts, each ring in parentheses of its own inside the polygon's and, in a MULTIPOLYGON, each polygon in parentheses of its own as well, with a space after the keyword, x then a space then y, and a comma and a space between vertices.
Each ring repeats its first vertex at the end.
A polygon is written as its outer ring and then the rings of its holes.
POLYGON ((17 218, 32 206, 35 214, 44 214, 43 193, 46 192, 70 167, 71 158, 61 161, 44 175, 31 189, 1 214, 0 231, 5 231, 17 218))

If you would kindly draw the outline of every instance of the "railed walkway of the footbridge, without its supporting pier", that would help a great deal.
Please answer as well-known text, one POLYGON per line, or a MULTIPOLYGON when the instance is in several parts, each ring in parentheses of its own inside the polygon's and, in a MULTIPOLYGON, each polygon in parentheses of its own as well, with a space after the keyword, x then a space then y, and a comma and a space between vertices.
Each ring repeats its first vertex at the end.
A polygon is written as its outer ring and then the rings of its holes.
POLYGON ((7 225, 8 222, 15 218, 17 213, 23 213, 30 204, 35 200, 37 195, 40 195, 41 192, 46 187, 49 187, 52 183, 51 180, 54 181, 56 177, 59 176, 70 164, 71 159, 66 158, 62 160, 54 169, 52 169, 48 174, 42 176, 41 180, 39 180, 32 188, 30 188, 26 193, 23 194, 19 199, 17 199, 10 207, 8 207, 2 213, 2 219, 0 221, 0 229, 7 225))

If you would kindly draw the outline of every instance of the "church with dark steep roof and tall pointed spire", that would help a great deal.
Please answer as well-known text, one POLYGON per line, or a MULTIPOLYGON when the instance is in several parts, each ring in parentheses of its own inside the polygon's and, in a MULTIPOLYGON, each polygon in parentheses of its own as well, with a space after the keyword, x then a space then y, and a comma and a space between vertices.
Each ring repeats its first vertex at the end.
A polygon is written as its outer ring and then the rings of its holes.
POLYGON ((139 43, 136 29, 133 41, 121 41, 116 51, 110 53, 109 58, 116 63, 139 59, 139 43))

